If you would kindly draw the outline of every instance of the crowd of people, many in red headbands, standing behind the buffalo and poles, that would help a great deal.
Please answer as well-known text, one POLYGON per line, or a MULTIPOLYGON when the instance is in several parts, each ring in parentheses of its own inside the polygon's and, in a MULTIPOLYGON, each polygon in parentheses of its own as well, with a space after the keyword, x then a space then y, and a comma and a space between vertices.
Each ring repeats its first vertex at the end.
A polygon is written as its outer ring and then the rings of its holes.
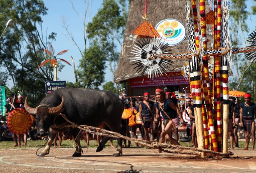
MULTIPOLYGON (((137 130, 139 129, 142 139, 156 140, 160 143, 168 143, 180 145, 178 127, 186 127, 186 135, 191 143, 191 146, 197 147, 196 134, 196 118, 194 114, 192 97, 185 97, 185 103, 177 99, 174 92, 157 88, 155 90, 155 102, 150 100, 150 93, 144 92, 143 100, 132 98, 124 105, 125 109, 130 109, 136 118, 141 120, 141 123, 129 126, 129 119, 121 119, 121 127, 123 134, 127 137, 138 138, 137 130), (139 117, 136 114, 139 114, 139 117), (131 135, 132 134, 132 135, 131 135)), ((5 116, 8 117, 10 112, 17 108, 24 108, 23 94, 18 93, 18 96, 11 95, 6 104, 5 116)), ((256 104, 251 102, 251 95, 244 95, 244 103, 240 103, 238 97, 229 97, 229 116, 228 116, 228 134, 230 139, 230 149, 234 150, 239 147, 237 131, 242 128, 246 138, 244 150, 249 149, 250 139, 252 141, 251 149, 254 150, 255 145, 255 117, 256 104)), ((27 140, 37 140, 36 124, 34 123, 29 131, 24 134, 14 134, 8 129, 7 121, 1 119, 0 124, 0 140, 14 141, 14 146, 26 146, 27 140)), ((81 131, 80 138, 85 140, 85 145, 89 145, 91 139, 96 139, 100 142, 100 136, 92 135, 88 132, 81 131)), ((54 147, 61 147, 62 140, 72 140, 73 137, 68 132, 56 132, 54 147)), ((110 147, 115 147, 110 138, 110 147)), ((139 145, 136 143, 136 147, 139 145)), ((123 141, 123 147, 131 147, 131 141, 123 141)), ((158 152, 161 152, 159 148, 158 152)))

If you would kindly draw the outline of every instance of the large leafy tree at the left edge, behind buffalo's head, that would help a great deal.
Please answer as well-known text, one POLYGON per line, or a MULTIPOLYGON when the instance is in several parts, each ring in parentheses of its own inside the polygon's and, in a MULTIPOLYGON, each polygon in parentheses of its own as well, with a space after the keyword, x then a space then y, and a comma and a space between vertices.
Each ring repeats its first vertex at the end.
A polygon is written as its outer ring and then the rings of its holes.
MULTIPOLYGON (((17 90, 23 90, 37 105, 45 96, 45 81, 53 79, 53 68, 38 68, 45 59, 44 49, 55 40, 56 33, 43 34, 41 16, 47 15, 42 0, 7 0, 0 2, 0 31, 8 19, 15 24, 9 27, 0 43, 0 69, 2 85, 12 79, 17 90)), ((60 71, 63 65, 59 65, 60 71)))

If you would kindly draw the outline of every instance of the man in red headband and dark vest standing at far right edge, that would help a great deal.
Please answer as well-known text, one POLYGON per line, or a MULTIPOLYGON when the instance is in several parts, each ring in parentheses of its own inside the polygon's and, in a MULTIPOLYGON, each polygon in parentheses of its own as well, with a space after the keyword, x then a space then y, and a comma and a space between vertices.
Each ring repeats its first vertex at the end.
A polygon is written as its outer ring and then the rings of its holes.
POLYGON ((254 150, 255 145, 255 115, 256 115, 256 104, 250 101, 250 94, 244 95, 244 103, 240 104, 240 125, 246 131, 246 144, 242 150, 248 150, 250 142, 250 135, 252 135, 251 150, 254 150))

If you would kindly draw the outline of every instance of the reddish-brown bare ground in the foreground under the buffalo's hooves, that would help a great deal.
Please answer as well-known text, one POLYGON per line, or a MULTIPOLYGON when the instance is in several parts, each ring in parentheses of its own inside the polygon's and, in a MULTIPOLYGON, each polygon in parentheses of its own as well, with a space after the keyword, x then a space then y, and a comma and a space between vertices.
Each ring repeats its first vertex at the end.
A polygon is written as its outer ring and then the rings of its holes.
POLYGON ((40 157, 37 148, 1 149, 0 172, 256 172, 256 151, 251 150, 234 150, 229 158, 204 159, 147 148, 123 148, 120 157, 111 156, 114 148, 95 150, 83 148, 81 157, 72 157, 73 148, 51 148, 40 157))

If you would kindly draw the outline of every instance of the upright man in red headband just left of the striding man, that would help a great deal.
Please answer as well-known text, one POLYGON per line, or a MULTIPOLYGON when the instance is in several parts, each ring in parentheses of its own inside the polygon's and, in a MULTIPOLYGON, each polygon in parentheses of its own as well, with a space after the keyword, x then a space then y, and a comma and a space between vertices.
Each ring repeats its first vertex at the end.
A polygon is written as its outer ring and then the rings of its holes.
POLYGON ((144 100, 143 102, 140 102, 140 118, 142 121, 142 127, 144 129, 145 133, 145 139, 146 140, 153 140, 153 123, 152 120, 154 119, 154 102, 150 101, 150 93, 148 91, 144 92, 144 100), (149 137, 149 133, 151 133, 149 137))

